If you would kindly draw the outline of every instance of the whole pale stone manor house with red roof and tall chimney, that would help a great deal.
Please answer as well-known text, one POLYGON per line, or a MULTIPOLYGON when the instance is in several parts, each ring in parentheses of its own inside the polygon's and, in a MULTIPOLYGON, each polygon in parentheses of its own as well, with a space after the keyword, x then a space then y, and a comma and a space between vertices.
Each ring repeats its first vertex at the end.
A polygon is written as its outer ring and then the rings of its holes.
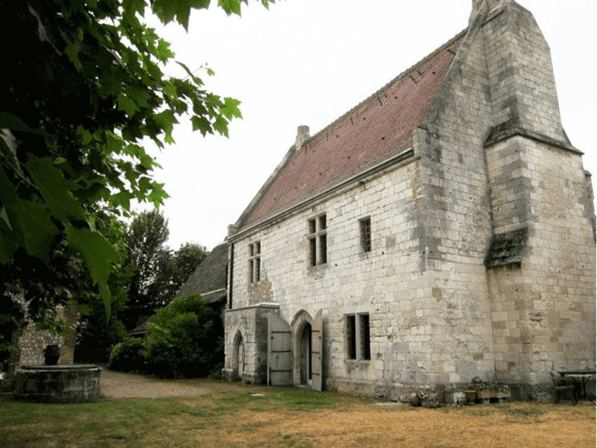
POLYGON ((591 174, 514 0, 296 143, 228 228, 223 377, 401 396, 595 368, 591 174))

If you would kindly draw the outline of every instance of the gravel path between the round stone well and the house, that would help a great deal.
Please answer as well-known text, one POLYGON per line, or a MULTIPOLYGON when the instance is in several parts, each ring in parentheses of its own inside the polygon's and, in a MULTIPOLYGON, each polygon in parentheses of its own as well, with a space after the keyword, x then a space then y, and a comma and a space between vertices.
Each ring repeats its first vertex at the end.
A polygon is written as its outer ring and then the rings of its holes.
POLYGON ((242 391, 251 386, 210 379, 155 379, 142 375, 113 372, 102 366, 99 392, 104 398, 162 398, 223 391, 242 391))

